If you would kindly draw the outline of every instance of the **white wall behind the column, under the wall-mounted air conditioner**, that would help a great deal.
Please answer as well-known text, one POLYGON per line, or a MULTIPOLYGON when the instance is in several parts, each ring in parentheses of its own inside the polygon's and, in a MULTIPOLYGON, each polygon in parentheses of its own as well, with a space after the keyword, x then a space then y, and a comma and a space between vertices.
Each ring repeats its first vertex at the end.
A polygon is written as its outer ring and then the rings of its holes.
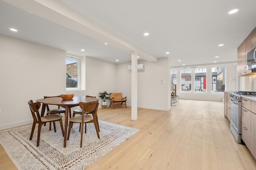
MULTIPOLYGON (((160 58, 157 62, 138 60, 144 64, 144 71, 138 71, 138 107, 167 111, 170 109, 170 60, 160 58), (161 84, 161 80, 166 83, 161 84)), ((127 96, 131 105, 131 63, 120 63, 117 67, 117 89, 127 96)))

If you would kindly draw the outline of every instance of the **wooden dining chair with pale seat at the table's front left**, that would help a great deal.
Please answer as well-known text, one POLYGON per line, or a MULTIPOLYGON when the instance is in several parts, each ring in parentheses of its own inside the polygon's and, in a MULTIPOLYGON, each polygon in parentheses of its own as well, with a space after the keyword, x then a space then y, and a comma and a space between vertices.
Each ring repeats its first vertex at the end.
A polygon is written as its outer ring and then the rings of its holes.
POLYGON ((36 127, 37 123, 38 123, 38 132, 37 132, 36 146, 39 146, 41 127, 42 127, 42 125, 44 125, 47 122, 53 122, 54 132, 56 132, 55 122, 59 121, 60 122, 60 128, 61 128, 61 131, 62 131, 62 136, 64 136, 64 128, 63 128, 63 124, 62 124, 62 115, 52 114, 52 115, 46 115, 44 117, 41 117, 40 114, 39 114, 39 111, 38 111, 38 109, 41 106, 41 103, 39 103, 39 102, 33 103, 33 101, 30 100, 30 101, 28 101, 28 105, 30 107, 30 111, 31 111, 31 114, 32 114, 32 117, 33 117, 33 120, 34 120, 29 140, 32 140, 34 130, 35 130, 35 127, 36 127))

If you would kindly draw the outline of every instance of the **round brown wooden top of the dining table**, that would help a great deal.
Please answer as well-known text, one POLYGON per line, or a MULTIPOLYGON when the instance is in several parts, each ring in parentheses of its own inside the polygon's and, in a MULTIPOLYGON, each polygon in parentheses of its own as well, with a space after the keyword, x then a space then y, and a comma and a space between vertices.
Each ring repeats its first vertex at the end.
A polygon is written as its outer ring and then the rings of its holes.
POLYGON ((46 99, 37 99, 36 101, 48 105, 78 105, 79 102, 88 103, 97 100, 94 97, 74 96, 71 100, 63 100, 61 97, 49 97, 46 99))

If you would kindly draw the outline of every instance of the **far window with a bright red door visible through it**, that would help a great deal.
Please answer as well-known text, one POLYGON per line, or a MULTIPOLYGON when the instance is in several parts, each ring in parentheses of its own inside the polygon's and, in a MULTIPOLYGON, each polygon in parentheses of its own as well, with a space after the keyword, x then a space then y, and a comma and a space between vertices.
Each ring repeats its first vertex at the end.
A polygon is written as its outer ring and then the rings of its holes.
POLYGON ((206 68, 195 69, 195 91, 206 91, 206 68))

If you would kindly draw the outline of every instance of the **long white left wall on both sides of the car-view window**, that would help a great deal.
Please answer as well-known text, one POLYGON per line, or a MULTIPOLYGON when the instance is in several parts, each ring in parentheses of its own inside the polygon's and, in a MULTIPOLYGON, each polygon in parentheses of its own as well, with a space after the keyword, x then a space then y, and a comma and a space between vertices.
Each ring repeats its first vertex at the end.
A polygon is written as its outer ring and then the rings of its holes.
MULTIPOLYGON (((67 92, 66 51, 0 35, 0 54, 0 130, 33 122, 29 100, 67 92)), ((86 90, 68 93, 98 97, 99 92, 116 90, 116 64, 82 57, 85 74, 86 90)))

